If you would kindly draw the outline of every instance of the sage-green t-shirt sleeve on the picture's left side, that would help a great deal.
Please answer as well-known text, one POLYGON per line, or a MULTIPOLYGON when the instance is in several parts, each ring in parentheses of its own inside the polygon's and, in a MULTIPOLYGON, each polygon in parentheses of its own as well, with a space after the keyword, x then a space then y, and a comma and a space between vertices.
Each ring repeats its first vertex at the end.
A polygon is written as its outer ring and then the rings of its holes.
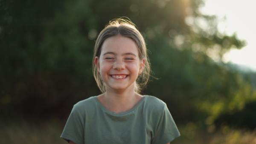
POLYGON ((74 141, 76 144, 84 144, 84 112, 77 105, 74 105, 61 138, 74 141))

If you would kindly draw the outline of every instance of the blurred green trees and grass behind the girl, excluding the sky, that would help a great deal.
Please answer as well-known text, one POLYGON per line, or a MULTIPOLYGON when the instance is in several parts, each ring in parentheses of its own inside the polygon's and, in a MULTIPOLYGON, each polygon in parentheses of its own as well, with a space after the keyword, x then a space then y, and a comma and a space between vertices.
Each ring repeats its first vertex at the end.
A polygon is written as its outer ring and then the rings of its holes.
MULTIPOLYGON (((245 40, 218 30, 203 0, 0 0, 0 143, 62 144, 76 102, 99 95, 93 46, 116 17, 143 34, 144 95, 166 102, 173 144, 256 144, 256 72, 224 63, 245 40)), ((252 17, 253 18, 253 17, 252 17)))

